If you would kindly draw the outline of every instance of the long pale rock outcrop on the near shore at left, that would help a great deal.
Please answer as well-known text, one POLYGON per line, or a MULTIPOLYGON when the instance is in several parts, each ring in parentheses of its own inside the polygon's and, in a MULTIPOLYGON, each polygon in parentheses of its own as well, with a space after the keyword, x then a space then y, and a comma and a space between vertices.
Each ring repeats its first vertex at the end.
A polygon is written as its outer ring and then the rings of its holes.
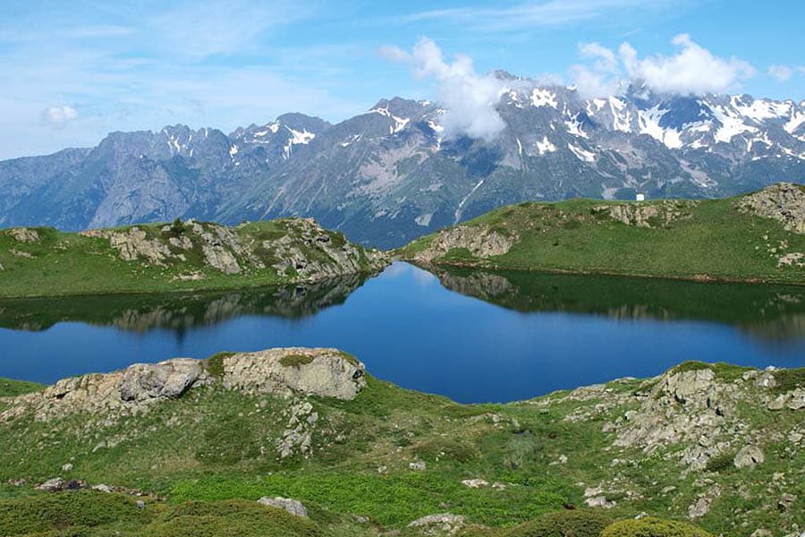
MULTIPOLYGON (((322 396, 352 399, 366 386, 364 365, 335 349, 287 348, 219 358, 216 377, 207 362, 174 358, 159 363, 135 363, 123 371, 62 379, 41 392, 13 397, 0 413, 0 422, 32 414, 47 422, 74 413, 105 413, 110 420, 122 414, 147 412, 149 405, 182 396, 187 390, 220 384, 247 394, 322 396)), ((303 407, 304 424, 318 415, 303 407)), ((301 420, 293 415, 291 425, 301 420)), ((290 426, 290 425, 289 425, 290 426)), ((285 435, 289 451, 305 451, 307 430, 291 428, 285 435)), ((308 441, 309 447, 309 441, 308 441)), ((282 449, 281 449, 282 451, 282 449)))

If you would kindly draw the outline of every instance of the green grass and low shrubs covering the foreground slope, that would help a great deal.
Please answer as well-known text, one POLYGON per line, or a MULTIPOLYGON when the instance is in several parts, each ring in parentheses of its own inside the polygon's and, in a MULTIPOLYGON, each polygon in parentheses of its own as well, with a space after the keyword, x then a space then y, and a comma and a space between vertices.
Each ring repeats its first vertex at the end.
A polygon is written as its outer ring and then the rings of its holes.
MULTIPOLYGON (((223 356, 208 359, 208 372, 222 374, 223 356)), ((648 396, 657 379, 617 380, 511 405, 459 405, 369 377, 352 401, 308 397, 318 413, 311 452, 288 458, 279 457, 276 440, 300 398, 215 385, 136 415, 0 421, 0 534, 345 537, 399 529, 419 535, 407 527, 411 521, 449 512, 465 517, 469 525, 457 533, 464 536, 707 537, 682 522, 712 490, 707 483, 719 495, 695 524, 713 534, 802 527, 805 453, 787 435, 801 428, 805 410, 767 410, 765 388, 746 377, 759 373, 747 368, 686 362, 668 374, 705 369, 719 386, 733 384, 755 397, 725 408, 763 442, 765 462, 736 468, 732 456, 742 442, 693 471, 676 456, 690 447, 684 443, 648 453, 637 445, 615 447, 605 425, 623 427, 628 411, 664 397, 648 396), (65 471, 66 463, 72 468, 65 471), (146 491, 145 508, 117 493, 33 490, 55 475, 146 491), (487 484, 462 484, 471 479, 487 484), (777 487, 795 496, 792 505, 776 507, 777 487), (600 491, 586 494, 590 488, 600 491), (299 499, 310 518, 258 506, 262 496, 299 499), (611 508, 586 507, 592 496, 611 508), (639 513, 664 520, 628 520, 639 513)), ((780 389, 805 388, 802 370, 774 375, 780 389)), ((38 388, 0 386, 4 394, 38 388)), ((674 413, 692 404, 673 397, 669 403, 674 413)), ((0 399, 0 416, 8 405, 0 399)))

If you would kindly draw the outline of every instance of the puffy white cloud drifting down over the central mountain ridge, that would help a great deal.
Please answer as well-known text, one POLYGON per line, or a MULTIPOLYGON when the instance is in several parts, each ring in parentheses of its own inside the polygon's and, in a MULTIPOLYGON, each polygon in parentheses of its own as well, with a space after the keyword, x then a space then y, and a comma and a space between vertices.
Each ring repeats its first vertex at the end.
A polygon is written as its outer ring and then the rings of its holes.
POLYGON ((446 109, 445 137, 463 134, 491 141, 504 130, 504 121, 496 110, 504 82, 492 74, 479 75, 468 56, 456 55, 452 63, 447 62, 428 38, 420 38, 411 53, 397 47, 383 47, 380 53, 410 64, 419 78, 436 80, 438 98, 446 109))

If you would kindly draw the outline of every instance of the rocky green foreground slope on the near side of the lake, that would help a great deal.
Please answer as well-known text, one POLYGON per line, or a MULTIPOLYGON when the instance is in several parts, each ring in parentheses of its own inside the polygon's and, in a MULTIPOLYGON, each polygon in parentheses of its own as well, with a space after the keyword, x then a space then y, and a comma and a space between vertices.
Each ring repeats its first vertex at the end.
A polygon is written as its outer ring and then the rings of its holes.
POLYGON ((699 362, 509 405, 333 349, 4 380, 0 533, 799 537, 803 413, 803 370, 699 362))

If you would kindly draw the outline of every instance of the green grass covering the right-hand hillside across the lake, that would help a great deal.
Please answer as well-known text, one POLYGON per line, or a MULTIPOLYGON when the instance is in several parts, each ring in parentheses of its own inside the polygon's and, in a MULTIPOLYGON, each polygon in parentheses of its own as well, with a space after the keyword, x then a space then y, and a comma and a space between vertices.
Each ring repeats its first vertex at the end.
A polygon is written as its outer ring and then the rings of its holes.
MULTIPOLYGON (((805 235, 787 232, 775 220, 738 211, 736 199, 677 202, 682 217, 668 225, 639 227, 609 217, 615 202, 567 200, 526 203, 493 210, 462 224, 509 230, 521 240, 489 259, 453 249, 433 260, 443 265, 473 265, 541 271, 623 274, 763 281, 801 285, 805 268, 778 267, 784 252, 805 251, 805 235), (785 244, 785 246, 782 246, 785 244), (772 251, 775 249, 776 251, 772 251), (459 252, 460 251, 460 252, 459 252)), ((623 203, 623 202, 619 202, 623 203)), ((667 207, 668 201, 648 202, 667 207)), ((655 222, 657 224, 657 222, 655 222)), ((399 254, 414 259, 433 242, 423 237, 399 254)))

